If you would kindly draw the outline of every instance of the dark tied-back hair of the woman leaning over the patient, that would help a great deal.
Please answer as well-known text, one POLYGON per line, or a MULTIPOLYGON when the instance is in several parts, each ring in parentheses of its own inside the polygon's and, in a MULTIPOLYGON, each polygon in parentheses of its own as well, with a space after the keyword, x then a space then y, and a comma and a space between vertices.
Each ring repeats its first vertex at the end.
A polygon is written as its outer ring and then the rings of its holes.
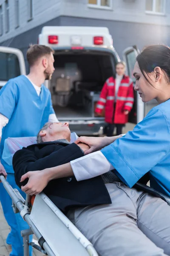
POLYGON ((144 74, 153 72, 155 67, 160 67, 167 81, 170 83, 170 47, 162 44, 150 45, 143 49, 136 58, 144 78, 150 83, 144 74))

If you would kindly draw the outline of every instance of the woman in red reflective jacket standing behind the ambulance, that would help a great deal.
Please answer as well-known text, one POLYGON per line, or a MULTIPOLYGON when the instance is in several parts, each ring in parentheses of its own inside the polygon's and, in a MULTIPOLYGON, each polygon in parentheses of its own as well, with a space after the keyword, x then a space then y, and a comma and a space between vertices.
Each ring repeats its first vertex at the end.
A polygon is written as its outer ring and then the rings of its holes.
POLYGON ((100 94, 95 112, 99 115, 105 107, 105 122, 108 123, 107 136, 113 136, 116 126, 117 135, 128 122, 128 114, 133 107, 133 82, 125 75, 125 63, 116 64, 116 77, 109 77, 100 94))

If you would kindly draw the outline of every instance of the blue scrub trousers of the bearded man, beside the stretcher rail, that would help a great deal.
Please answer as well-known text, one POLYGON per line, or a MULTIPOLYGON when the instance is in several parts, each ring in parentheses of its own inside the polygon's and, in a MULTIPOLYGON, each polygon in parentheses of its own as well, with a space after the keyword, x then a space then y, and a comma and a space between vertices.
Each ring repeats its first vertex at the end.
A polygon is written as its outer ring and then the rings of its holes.
MULTIPOLYGON (((18 189, 23 198, 26 198, 26 194, 16 185, 14 174, 8 173, 7 176, 8 183, 12 186, 13 189, 18 189)), ((0 183, 0 202, 3 207, 3 213, 8 222, 8 225, 11 227, 11 232, 8 234, 6 239, 7 244, 11 244, 12 251, 10 256, 23 256, 23 238, 21 237, 21 230, 28 229, 29 226, 26 221, 23 220, 20 213, 15 214, 11 205, 12 200, 6 189, 4 189, 3 184, 0 183)), ((29 236, 30 241, 32 240, 32 235, 29 236)), ((32 247, 29 248, 29 256, 32 256, 32 247)))

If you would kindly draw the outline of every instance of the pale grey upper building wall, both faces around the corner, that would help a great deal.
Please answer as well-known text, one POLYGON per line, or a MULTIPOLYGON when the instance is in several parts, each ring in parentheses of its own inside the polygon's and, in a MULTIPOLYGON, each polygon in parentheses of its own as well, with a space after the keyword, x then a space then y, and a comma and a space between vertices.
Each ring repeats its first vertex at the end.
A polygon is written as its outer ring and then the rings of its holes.
MULTIPOLYGON (((34 0, 33 19, 28 20, 28 0, 19 1, 19 27, 16 28, 15 0, 9 0, 9 32, 0 36, 0 43, 30 31, 56 17, 79 17, 107 21, 123 21, 128 23, 154 24, 170 26, 170 0, 166 1, 164 14, 145 12, 145 0, 111 0, 111 8, 96 8, 88 5, 88 0, 34 0)), ((3 10, 3 26, 5 27, 5 0, 0 0, 3 10)), ((77 18, 76 18, 77 19, 77 18)), ((94 22, 93 22, 94 23, 94 22)), ((101 23, 101 22, 100 22, 101 23)))

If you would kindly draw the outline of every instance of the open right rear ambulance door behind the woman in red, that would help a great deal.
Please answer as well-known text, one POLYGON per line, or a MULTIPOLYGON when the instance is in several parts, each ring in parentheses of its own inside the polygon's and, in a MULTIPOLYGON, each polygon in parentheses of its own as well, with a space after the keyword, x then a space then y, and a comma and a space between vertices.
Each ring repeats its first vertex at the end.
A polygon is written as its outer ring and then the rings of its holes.
MULTIPOLYGON (((133 80, 135 85, 135 78, 133 76, 133 68, 136 63, 136 56, 139 54, 139 49, 136 46, 128 47, 123 51, 123 60, 125 61, 127 68, 126 74, 133 80)), ((137 124, 144 118, 144 103, 139 96, 139 93, 134 91, 135 101, 133 104, 133 109, 129 114, 129 121, 131 123, 137 124)))

